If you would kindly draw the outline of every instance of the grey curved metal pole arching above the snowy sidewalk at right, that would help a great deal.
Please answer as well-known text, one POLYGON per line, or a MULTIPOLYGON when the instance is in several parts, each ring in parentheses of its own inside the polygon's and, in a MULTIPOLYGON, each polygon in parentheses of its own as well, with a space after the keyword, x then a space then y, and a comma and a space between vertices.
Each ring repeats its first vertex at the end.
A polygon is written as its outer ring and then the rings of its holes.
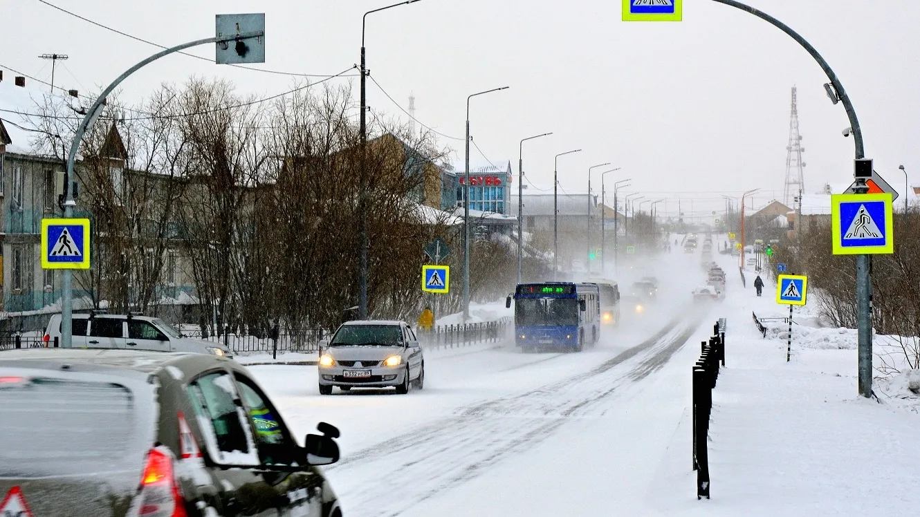
MULTIPOLYGON (((834 74, 834 70, 824 61, 822 55, 811 46, 811 43, 802 38, 798 32, 790 29, 783 22, 752 6, 747 6, 736 0, 713 0, 713 2, 741 9, 742 11, 769 22, 777 29, 785 32, 793 40, 796 40, 799 45, 811 54, 811 57, 821 66, 824 74, 827 75, 827 78, 831 81, 830 85, 833 86, 834 95, 836 96, 836 99, 833 99, 834 104, 836 104, 836 100, 839 99, 844 105, 846 118, 850 122, 851 132, 853 133, 853 144, 856 146, 857 160, 866 157, 866 151, 863 147, 862 129, 859 127, 856 109, 853 108, 853 103, 850 101, 849 96, 846 95, 846 90, 843 84, 841 84, 840 79, 834 74)), ((868 192, 866 179, 857 178, 857 193, 866 192, 868 192)), ((859 395, 870 397, 872 396, 872 282, 868 255, 857 255, 857 334, 859 395)))

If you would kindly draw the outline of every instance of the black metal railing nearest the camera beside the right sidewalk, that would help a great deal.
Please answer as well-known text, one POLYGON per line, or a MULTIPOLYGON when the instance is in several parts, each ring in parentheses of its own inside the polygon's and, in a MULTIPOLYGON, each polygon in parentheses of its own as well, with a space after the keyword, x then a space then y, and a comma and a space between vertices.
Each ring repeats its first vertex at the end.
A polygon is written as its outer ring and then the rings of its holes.
POLYGON ((696 470, 696 499, 709 499, 709 419, 712 416, 712 390, 719 379, 719 364, 725 366, 727 320, 719 318, 714 336, 703 341, 699 359, 693 367, 693 469, 696 470))

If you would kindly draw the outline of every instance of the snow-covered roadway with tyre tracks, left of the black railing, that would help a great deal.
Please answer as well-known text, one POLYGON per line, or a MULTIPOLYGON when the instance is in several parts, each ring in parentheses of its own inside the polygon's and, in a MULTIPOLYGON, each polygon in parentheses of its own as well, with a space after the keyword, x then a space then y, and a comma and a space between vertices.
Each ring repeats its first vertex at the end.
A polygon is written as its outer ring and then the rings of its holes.
POLYGON ((659 461, 639 472, 623 466, 629 461, 622 454, 648 449, 660 456, 667 449, 689 393, 688 359, 670 360, 682 350, 687 357, 698 354, 684 345, 695 335, 705 339, 718 317, 687 304, 688 297, 678 294, 689 293, 685 285, 671 289, 673 296, 664 290, 650 314, 605 331, 598 346, 582 353, 523 354, 507 343, 426 352, 425 389, 408 396, 318 396, 315 368, 252 371, 297 434, 320 420, 339 426, 342 460, 326 472, 350 517, 472 515, 497 508, 511 515, 582 514, 571 511, 573 505, 596 514, 615 502, 599 489, 655 477, 659 461), (679 403, 666 404, 661 388, 679 403), (625 425, 627 418, 639 421, 625 425), (619 463, 601 469, 599 484, 585 485, 590 497, 566 487, 567 477, 581 485, 598 474, 586 466, 610 455, 619 463), (544 462, 549 456, 556 459, 544 462), (518 466, 522 461, 530 465, 518 466), (474 484, 480 488, 471 490, 474 484), (511 486, 517 488, 503 488, 511 486), (534 506, 560 487, 566 488, 534 506), (544 509, 554 501, 557 509, 544 509))

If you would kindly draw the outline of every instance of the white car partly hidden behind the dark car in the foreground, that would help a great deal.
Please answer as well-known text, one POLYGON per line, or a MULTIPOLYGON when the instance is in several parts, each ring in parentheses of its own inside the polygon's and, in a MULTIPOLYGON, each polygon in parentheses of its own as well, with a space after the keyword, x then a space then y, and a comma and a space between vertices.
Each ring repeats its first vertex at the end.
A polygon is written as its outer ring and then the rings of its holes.
MULTIPOLYGON (((233 357, 221 343, 191 339, 158 317, 138 313, 127 315, 75 314, 72 323, 72 346, 75 349, 130 349, 188 351, 233 357)), ((61 343, 61 315, 48 322, 43 338, 46 347, 61 343)))

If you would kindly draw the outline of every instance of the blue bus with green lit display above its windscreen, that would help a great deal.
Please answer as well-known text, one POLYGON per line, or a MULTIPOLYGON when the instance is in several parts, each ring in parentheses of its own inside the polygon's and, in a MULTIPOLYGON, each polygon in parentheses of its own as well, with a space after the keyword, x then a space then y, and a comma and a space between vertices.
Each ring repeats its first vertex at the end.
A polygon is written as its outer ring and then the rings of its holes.
MULTIPOLYGON (((512 297, 505 301, 511 307, 512 297)), ((596 283, 520 283, 514 291, 514 340, 523 351, 564 347, 581 351, 600 337, 601 293, 596 283)))

